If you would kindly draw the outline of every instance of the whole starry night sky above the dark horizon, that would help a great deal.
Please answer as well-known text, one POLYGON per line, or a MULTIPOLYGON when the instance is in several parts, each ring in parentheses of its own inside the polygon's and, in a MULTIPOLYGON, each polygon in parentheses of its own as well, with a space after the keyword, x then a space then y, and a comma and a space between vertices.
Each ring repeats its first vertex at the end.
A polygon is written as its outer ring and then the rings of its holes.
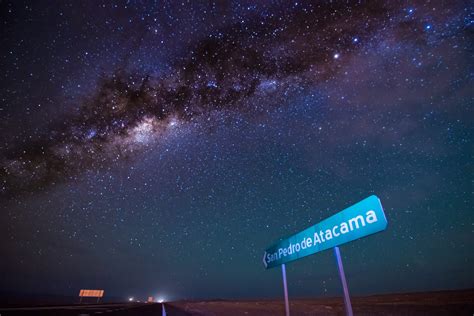
MULTIPOLYGON (((474 287, 468 2, 0 1, 0 291, 279 298, 376 194, 353 295, 474 287)), ((290 297, 341 295, 333 253, 290 297)))

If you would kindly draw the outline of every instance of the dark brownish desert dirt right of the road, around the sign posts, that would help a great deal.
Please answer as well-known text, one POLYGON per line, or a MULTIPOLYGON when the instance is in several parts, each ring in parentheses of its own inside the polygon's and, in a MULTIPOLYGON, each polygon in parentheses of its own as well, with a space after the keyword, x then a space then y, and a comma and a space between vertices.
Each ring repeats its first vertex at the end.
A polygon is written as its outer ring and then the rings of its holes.
MULTIPOLYGON (((474 290, 352 298, 354 315, 474 315, 474 290)), ((166 304, 168 316, 284 315, 280 301, 182 301, 166 304)), ((296 315, 345 315, 342 298, 291 300, 296 315)))

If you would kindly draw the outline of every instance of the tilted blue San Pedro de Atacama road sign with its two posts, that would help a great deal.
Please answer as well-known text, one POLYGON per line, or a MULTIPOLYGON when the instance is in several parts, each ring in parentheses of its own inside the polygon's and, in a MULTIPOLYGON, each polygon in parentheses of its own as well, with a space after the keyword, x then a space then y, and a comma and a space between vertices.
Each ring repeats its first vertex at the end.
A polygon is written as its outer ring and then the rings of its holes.
POLYGON ((334 248, 339 276, 341 277, 344 290, 346 313, 352 316, 349 289, 338 246, 381 232, 386 228, 387 219, 383 212, 382 203, 380 203, 380 199, 377 196, 372 195, 318 224, 308 227, 267 248, 263 254, 265 268, 282 266, 286 315, 289 315, 289 305, 285 263, 334 248))

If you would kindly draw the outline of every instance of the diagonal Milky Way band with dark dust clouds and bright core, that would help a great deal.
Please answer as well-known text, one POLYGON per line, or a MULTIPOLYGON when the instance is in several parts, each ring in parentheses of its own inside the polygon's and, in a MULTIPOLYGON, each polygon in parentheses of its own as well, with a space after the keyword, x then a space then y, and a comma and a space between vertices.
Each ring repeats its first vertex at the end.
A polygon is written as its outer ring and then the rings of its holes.
POLYGON ((289 10, 209 35, 164 76, 124 70, 104 75, 79 113, 55 122, 39 141, 3 153, 2 193, 37 190, 119 163, 175 124, 212 111, 268 111, 292 92, 333 78, 381 32, 397 41, 426 41, 413 31, 423 28, 419 21, 407 13, 392 17, 392 10, 382 4, 289 10))

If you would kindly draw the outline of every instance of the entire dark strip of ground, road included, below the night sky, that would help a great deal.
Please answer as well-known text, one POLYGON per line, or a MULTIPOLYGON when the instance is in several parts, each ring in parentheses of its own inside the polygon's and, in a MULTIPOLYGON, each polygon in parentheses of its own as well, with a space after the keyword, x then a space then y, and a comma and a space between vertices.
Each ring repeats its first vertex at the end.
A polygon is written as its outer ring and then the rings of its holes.
MULTIPOLYGON (((389 294, 352 298, 354 315, 474 315, 474 289, 411 294, 389 294)), ((284 315, 282 300, 260 301, 181 301, 164 304, 91 304, 0 308, 8 315, 163 315, 214 316, 284 315)), ((342 298, 290 301, 292 316, 344 315, 342 298)))

